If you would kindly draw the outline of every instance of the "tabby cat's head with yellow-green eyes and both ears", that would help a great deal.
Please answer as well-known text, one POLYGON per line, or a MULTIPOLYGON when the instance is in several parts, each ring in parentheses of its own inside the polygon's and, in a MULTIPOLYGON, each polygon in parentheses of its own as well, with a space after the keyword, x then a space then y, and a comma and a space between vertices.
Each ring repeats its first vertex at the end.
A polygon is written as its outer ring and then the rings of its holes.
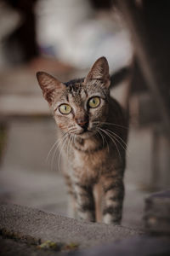
POLYGON ((38 72, 37 80, 64 133, 88 138, 105 122, 111 83, 105 57, 95 61, 85 79, 62 83, 48 73, 38 72))

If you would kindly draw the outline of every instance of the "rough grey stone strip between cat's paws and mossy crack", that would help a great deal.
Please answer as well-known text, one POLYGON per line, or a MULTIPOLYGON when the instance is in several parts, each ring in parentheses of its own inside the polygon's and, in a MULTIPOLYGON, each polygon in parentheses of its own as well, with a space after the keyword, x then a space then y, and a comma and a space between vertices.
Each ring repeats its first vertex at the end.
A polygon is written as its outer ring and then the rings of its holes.
POLYGON ((142 233, 120 225, 78 221, 11 204, 1 205, 0 219, 3 236, 15 237, 37 245, 45 241, 55 241, 74 243, 80 248, 87 248, 142 233))

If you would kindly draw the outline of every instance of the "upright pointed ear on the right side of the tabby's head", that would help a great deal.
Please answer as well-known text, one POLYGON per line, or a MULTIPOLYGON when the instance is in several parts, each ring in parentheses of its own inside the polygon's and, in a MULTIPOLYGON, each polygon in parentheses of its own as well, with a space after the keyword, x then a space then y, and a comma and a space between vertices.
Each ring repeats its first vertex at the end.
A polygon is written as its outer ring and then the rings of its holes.
POLYGON ((84 82, 93 79, 101 80, 107 87, 110 85, 109 65, 104 56, 95 61, 94 66, 91 68, 84 82))

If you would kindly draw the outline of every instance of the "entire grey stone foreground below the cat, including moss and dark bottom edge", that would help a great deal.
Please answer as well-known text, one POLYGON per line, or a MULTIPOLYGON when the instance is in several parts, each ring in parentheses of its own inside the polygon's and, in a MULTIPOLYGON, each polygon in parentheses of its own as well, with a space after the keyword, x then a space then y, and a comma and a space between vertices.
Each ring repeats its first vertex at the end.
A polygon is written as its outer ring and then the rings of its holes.
POLYGON ((0 205, 0 255, 169 255, 169 236, 78 221, 30 207, 0 205))

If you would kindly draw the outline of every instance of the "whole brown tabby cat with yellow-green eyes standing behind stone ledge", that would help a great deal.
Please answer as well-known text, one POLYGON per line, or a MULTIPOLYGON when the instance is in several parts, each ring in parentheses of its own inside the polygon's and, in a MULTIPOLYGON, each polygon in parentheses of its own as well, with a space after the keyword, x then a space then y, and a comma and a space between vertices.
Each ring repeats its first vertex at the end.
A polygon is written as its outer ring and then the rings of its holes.
POLYGON ((73 213, 121 224, 128 119, 110 96, 108 61, 100 57, 83 79, 62 83, 38 72, 37 81, 59 127, 73 213))

